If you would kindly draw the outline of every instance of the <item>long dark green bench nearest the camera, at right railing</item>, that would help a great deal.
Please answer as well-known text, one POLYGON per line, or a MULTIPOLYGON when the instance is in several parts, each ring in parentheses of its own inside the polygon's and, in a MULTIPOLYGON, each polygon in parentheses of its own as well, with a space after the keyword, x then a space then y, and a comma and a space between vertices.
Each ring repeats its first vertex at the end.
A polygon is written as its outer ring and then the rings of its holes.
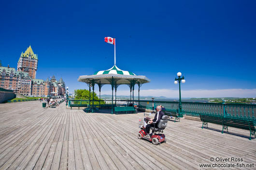
POLYGON ((234 128, 239 128, 243 130, 248 130, 250 131, 250 137, 249 140, 251 140, 251 136, 255 135, 255 122, 254 120, 249 120, 245 118, 232 118, 232 117, 223 117, 219 115, 210 115, 210 114, 199 114, 200 119, 202 121, 202 129, 203 125, 206 125, 208 128, 208 123, 214 123, 218 125, 222 125, 222 132, 227 129, 228 127, 234 127, 234 128))

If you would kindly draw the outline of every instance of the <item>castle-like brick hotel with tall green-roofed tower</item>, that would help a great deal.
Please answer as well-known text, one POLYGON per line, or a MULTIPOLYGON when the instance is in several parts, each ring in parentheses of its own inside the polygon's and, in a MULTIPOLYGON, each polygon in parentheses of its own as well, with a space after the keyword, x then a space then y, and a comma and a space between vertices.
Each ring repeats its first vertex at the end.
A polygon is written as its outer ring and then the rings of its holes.
POLYGON ((0 66, 0 87, 14 90, 18 94, 35 97, 64 96, 65 82, 62 78, 58 81, 55 76, 36 79, 38 65, 37 54, 34 54, 31 46, 19 57, 17 70, 15 68, 0 66))

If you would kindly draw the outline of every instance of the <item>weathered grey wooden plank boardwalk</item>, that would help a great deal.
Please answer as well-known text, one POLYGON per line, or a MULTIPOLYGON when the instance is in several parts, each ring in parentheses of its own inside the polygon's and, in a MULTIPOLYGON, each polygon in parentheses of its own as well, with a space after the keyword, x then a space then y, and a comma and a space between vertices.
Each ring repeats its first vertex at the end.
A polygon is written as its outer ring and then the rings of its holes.
POLYGON ((168 121, 167 143, 153 145, 137 138, 139 118, 143 113, 85 113, 64 103, 45 109, 39 101, 1 104, 0 170, 195 170, 214 163, 254 163, 233 169, 256 169, 256 139, 248 140, 249 131, 222 134, 221 126, 201 129, 201 122, 181 119, 168 121))

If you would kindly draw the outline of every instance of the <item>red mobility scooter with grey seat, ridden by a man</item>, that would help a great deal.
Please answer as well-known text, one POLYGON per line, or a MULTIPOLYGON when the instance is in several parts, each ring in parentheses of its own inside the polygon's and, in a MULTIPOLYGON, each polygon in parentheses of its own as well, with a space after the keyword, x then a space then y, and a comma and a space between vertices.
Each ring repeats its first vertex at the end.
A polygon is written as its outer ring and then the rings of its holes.
POLYGON ((159 132, 163 132, 163 130, 166 128, 167 126, 167 122, 168 122, 168 116, 164 115, 159 123, 157 124, 157 128, 156 127, 152 127, 150 128, 152 130, 152 136, 151 138, 147 138, 146 136, 146 126, 148 121, 150 120, 150 118, 146 117, 143 120, 143 125, 141 125, 141 120, 139 121, 139 128, 141 128, 141 131, 139 131, 138 133, 138 138, 139 139, 144 139, 147 140, 149 142, 152 142, 152 144, 161 144, 161 143, 165 143, 165 135, 161 134, 159 132), (158 132, 158 133, 156 133, 158 132))

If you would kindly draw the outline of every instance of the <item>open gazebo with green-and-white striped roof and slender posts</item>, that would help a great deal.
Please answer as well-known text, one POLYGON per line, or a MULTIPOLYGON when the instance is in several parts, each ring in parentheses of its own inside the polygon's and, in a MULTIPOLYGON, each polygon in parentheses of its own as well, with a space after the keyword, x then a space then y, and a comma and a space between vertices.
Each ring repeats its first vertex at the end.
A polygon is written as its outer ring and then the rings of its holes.
MULTIPOLYGON (((139 101, 140 101, 140 87, 144 83, 150 82, 145 76, 137 76, 130 71, 124 71, 119 69, 116 65, 108 70, 97 71, 93 75, 79 76, 78 81, 85 82, 89 86, 89 92, 91 94, 91 87, 94 92, 94 85, 98 84, 99 90, 105 84, 110 84, 112 87, 112 111, 113 114, 113 91, 115 89, 115 100, 116 100, 116 90, 121 84, 127 84, 130 88, 130 101, 132 92, 132 101, 134 99, 133 92, 135 84, 139 86, 139 101)), ((92 100, 94 105, 94 98, 92 100)), ((92 107, 93 108, 93 107, 92 107)), ((93 112, 93 109, 92 109, 93 112)))

